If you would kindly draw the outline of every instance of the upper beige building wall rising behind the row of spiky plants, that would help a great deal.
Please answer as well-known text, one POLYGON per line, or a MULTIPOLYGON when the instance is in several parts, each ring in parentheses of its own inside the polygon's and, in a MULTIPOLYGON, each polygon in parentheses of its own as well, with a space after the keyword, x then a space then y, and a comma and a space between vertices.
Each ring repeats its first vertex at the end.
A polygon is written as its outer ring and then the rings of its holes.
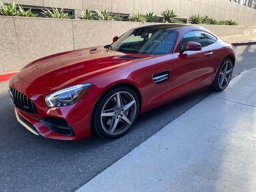
MULTIPOLYGON (((2 1, 12 3, 14 0, 2 1)), ((256 24, 256 10, 229 0, 15 0, 15 2, 21 5, 74 10, 103 10, 105 8, 114 13, 124 14, 132 14, 132 12, 160 14, 162 10, 170 8, 176 11, 179 18, 188 18, 196 13, 207 14, 216 20, 232 19, 239 25, 256 24)))

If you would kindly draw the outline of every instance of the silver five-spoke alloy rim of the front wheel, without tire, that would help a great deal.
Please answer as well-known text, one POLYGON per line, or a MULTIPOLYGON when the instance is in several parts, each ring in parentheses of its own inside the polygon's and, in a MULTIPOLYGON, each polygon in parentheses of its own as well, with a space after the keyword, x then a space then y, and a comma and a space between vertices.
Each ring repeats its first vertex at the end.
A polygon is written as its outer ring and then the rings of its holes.
POLYGON ((104 104, 101 125, 111 135, 121 134, 132 124, 136 115, 136 101, 128 92, 113 94, 104 104))

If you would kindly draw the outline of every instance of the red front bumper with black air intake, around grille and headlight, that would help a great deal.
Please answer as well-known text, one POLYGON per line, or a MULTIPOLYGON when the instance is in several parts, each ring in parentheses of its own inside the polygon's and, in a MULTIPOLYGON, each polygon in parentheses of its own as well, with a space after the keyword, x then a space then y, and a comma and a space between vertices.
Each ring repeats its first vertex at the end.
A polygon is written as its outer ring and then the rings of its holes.
MULTIPOLYGON (((46 88, 38 88, 21 79, 14 83, 10 79, 10 86, 18 90, 34 103, 37 114, 15 107, 17 120, 28 130, 37 135, 60 140, 75 140, 90 136, 90 122, 93 108, 100 94, 88 92, 77 103, 64 107, 48 107, 45 96, 52 92, 46 88)), ((20 96, 20 95, 19 95, 20 96)))

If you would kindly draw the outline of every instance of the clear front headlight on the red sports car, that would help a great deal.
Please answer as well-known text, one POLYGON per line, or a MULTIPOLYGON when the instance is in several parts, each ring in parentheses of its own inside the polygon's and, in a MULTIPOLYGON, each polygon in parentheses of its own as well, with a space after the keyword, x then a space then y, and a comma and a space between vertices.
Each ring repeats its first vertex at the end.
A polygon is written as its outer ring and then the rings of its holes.
POLYGON ((91 83, 79 84, 58 90, 45 98, 49 107, 68 106, 78 102, 90 89, 91 83))

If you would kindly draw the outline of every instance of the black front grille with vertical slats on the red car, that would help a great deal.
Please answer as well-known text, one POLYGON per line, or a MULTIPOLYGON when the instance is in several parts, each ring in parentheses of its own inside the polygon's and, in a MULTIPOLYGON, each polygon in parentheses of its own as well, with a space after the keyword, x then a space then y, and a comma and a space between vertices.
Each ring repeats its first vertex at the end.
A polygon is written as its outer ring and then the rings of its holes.
POLYGON ((26 95, 10 87, 10 96, 12 102, 18 109, 31 114, 37 114, 36 106, 33 104, 32 100, 26 95))

